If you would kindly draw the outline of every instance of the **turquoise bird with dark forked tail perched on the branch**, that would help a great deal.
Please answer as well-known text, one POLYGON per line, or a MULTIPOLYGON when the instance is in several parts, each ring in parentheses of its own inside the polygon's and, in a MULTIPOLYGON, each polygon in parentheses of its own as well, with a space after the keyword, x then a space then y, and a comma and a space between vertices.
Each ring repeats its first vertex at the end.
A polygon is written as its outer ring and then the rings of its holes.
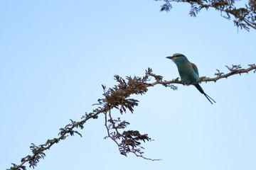
MULTIPOLYGON (((172 60, 176 66, 178 67, 178 74, 181 77, 181 81, 186 82, 186 84, 190 85, 193 84, 193 86, 196 86, 196 89, 201 92, 208 101, 212 100, 214 103, 216 103, 213 98, 210 98, 204 91, 203 88, 198 84, 200 81, 198 68, 196 67, 196 64, 193 64, 192 62, 188 61, 188 58, 185 55, 176 53, 173 56, 166 57, 170 60, 172 60)), ((213 104, 213 102, 210 101, 210 103, 213 104)))

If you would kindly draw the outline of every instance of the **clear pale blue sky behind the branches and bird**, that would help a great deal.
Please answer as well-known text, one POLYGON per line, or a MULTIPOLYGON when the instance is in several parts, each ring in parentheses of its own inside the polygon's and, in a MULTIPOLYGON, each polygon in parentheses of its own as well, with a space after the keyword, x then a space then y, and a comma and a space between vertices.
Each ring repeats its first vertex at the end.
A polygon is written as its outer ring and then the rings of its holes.
MULTIPOLYGON (((214 77, 225 65, 253 64, 256 32, 209 10, 196 18, 189 6, 145 1, 1 1, 0 169, 19 164, 59 128, 80 120, 102 98, 113 76, 143 76, 151 67, 165 80, 178 77, 166 56, 176 52, 214 77)), ((134 114, 122 115, 129 129, 149 134, 145 157, 124 157, 107 135, 104 119, 90 120, 83 137, 68 137, 46 152, 36 169, 256 169, 256 74, 235 75, 172 91, 158 85, 139 99, 134 114)), ((119 115, 117 115, 119 116, 119 115)), ((27 166, 28 164, 26 164, 27 166)), ((29 169, 29 168, 28 168, 29 169)))

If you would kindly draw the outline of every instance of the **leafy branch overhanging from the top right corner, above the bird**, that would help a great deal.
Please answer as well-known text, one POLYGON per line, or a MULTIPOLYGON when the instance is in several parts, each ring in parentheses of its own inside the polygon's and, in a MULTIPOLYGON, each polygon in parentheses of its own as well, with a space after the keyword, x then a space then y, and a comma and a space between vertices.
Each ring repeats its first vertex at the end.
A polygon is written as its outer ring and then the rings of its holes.
POLYGON ((202 9, 214 8, 220 11, 220 15, 224 18, 230 19, 234 17, 233 22, 238 28, 250 30, 256 29, 256 1, 249 0, 243 7, 236 6, 236 2, 240 0, 154 0, 164 1, 160 11, 170 11, 173 2, 183 2, 191 5, 189 14, 196 16, 202 9))

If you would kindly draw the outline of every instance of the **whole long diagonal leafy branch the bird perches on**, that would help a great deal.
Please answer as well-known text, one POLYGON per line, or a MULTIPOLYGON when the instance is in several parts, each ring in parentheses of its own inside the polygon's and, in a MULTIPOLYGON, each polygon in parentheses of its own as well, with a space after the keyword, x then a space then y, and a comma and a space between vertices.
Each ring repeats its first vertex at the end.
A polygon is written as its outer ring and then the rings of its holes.
MULTIPOLYGON (((218 72, 215 73, 217 77, 202 77, 201 81, 217 81, 218 79, 224 77, 227 78, 234 74, 248 73, 252 70, 256 72, 255 64, 249 64, 249 66, 250 67, 247 69, 242 69, 240 65, 232 65, 231 67, 226 66, 230 73, 224 74, 217 69, 218 72)), ((38 146, 32 143, 30 147, 32 154, 22 158, 21 164, 12 164, 10 169, 26 170, 26 166, 24 166, 25 163, 28 163, 30 168, 35 168, 40 159, 46 157, 44 152, 47 149, 50 149, 50 147, 57 144, 61 140, 65 140, 65 138, 69 135, 73 136, 76 134, 82 137, 80 132, 74 129, 83 129, 87 120, 97 119, 98 115, 100 114, 105 115, 105 127, 107 129, 107 136, 105 139, 110 138, 113 140, 117 144, 120 154, 127 156, 127 154, 132 153, 137 157, 149 159, 144 157, 144 147, 142 147, 142 144, 144 142, 151 141, 151 138, 147 134, 142 135, 139 130, 127 130, 129 122, 122 120, 120 117, 114 118, 112 116, 112 111, 118 111, 120 115, 127 113, 127 111, 133 113, 134 106, 138 106, 139 101, 131 98, 130 96, 133 94, 145 94, 150 86, 162 84, 176 90, 177 87, 173 84, 185 84, 185 82, 179 81, 178 78, 173 79, 172 81, 162 81, 162 78, 163 77, 154 74, 150 68, 146 70, 144 77, 126 77, 126 79, 123 79, 122 77, 115 75, 114 79, 117 81, 117 85, 109 89, 102 85, 104 98, 98 99, 97 103, 94 104, 94 106, 98 106, 95 110, 93 110, 91 113, 85 113, 85 115, 83 115, 81 118, 82 120, 78 122, 70 120, 71 123, 65 125, 64 128, 60 128, 58 138, 47 140, 45 144, 38 146), (151 79, 154 79, 155 82, 149 83, 151 79)), ((154 161, 159 159, 149 160, 154 161)))

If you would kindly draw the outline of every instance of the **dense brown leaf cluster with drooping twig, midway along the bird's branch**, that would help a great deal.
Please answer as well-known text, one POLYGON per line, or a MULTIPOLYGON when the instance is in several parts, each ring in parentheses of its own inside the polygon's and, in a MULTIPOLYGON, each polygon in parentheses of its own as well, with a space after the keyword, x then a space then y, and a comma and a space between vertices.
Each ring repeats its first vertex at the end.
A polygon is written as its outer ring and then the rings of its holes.
MULTIPOLYGON (((162 79, 162 77, 154 74, 152 69, 147 69, 144 77, 126 77, 123 79, 118 75, 114 76, 117 81, 117 85, 106 91, 106 86, 102 86, 104 90, 103 96, 98 100, 98 105, 105 106, 107 108, 105 112, 105 127, 107 129, 107 137, 113 140, 118 148, 120 154, 127 156, 128 153, 133 153, 137 157, 143 157, 142 142, 151 141, 151 138, 147 134, 140 134, 138 130, 124 130, 129 123, 121 118, 113 118, 111 111, 112 108, 116 108, 119 113, 134 112, 134 106, 138 106, 139 101, 134 98, 130 98, 132 94, 145 94, 148 91, 146 84, 154 78, 156 81, 162 79)), ((156 160, 156 159, 150 159, 156 160)))

